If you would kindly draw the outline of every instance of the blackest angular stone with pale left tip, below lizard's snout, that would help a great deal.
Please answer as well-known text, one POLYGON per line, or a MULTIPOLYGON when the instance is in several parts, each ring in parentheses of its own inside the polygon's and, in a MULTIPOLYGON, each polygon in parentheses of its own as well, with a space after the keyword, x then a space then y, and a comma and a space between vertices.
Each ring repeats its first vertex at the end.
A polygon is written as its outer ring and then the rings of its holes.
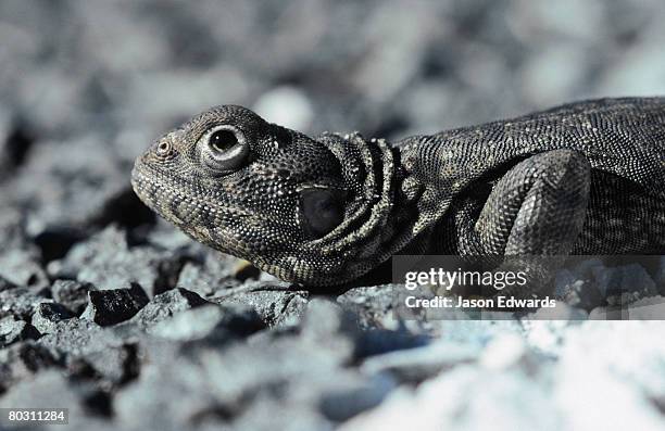
POLYGON ((120 324, 134 317, 149 301, 137 283, 130 283, 129 289, 91 290, 88 291, 88 306, 80 318, 100 326, 120 324))

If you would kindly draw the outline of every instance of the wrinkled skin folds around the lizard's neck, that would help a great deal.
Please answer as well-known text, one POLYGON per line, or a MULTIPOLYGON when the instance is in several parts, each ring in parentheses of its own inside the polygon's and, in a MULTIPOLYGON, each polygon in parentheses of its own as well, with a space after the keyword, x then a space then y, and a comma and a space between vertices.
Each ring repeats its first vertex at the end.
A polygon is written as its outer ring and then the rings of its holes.
POLYGON ((402 190, 400 152, 384 139, 365 140, 360 134, 317 140, 339 161, 350 199, 344 221, 310 246, 339 262, 334 272, 340 279, 367 272, 413 238, 416 208, 402 190))

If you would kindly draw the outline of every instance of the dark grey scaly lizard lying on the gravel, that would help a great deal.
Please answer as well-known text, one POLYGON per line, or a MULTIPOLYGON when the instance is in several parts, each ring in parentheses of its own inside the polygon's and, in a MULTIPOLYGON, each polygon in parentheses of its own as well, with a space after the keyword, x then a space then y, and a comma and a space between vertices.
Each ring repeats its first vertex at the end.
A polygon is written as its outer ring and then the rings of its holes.
POLYGON ((665 98, 392 143, 221 105, 152 142, 131 183, 195 240, 309 287, 352 283, 394 254, 665 254, 665 98))

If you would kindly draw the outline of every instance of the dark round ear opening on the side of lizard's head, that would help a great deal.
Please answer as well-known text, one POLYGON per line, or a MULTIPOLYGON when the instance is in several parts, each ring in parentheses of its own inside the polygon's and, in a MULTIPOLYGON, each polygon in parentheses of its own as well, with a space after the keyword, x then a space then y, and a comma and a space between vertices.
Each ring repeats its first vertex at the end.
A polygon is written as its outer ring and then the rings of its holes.
POLYGON ((302 227, 311 239, 332 231, 344 219, 344 200, 330 189, 311 188, 300 192, 302 227))

